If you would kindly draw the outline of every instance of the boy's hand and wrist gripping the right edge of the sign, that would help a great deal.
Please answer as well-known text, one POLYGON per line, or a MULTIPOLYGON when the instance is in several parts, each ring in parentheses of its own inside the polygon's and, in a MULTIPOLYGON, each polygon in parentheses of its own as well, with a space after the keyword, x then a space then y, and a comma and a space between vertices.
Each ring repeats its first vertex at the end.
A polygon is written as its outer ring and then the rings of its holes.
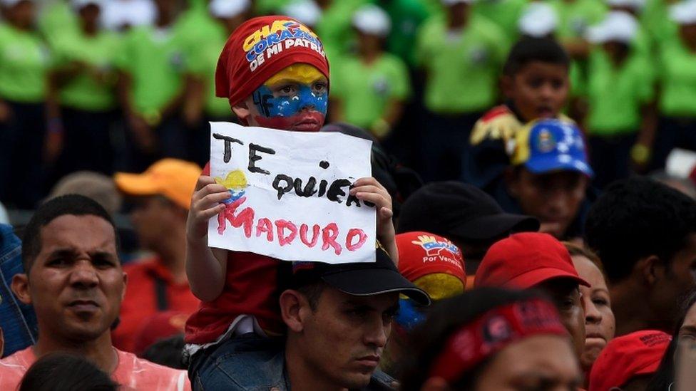
POLYGON ((391 209, 391 196, 382 184, 373 177, 360 178, 353 183, 350 194, 363 202, 372 202, 377 209, 377 239, 383 245, 394 241, 394 224, 391 217, 394 212, 391 209))

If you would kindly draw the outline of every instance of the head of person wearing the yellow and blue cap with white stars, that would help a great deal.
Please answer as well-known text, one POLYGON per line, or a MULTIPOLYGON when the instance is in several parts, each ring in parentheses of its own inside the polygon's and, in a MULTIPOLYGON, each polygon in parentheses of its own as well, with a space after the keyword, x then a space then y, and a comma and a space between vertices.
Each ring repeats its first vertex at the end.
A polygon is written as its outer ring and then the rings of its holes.
POLYGON ((503 210, 538 218, 541 232, 561 240, 582 236, 594 172, 578 126, 565 120, 531 122, 507 148, 511 165, 492 193, 503 210))

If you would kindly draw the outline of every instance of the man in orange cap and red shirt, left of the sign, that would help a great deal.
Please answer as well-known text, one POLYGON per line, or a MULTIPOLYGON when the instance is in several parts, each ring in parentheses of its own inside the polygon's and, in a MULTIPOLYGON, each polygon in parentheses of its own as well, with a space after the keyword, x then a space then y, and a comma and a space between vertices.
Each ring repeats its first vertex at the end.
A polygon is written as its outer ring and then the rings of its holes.
POLYGON ((116 187, 129 197, 131 221, 143 249, 153 256, 123 268, 131 286, 121 305, 121 322, 113 330, 113 345, 135 351, 135 334, 162 311, 191 314, 200 301, 186 278, 186 217, 193 188, 200 176, 195 163, 177 159, 155 162, 142 174, 119 172, 116 187))

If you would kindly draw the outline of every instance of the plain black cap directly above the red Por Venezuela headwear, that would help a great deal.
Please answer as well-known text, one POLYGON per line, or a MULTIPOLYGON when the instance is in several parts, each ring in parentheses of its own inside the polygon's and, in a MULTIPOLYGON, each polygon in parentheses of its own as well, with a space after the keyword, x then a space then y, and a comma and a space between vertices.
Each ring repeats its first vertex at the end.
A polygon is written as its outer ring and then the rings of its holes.
POLYGON ((426 184, 406 199, 397 233, 426 231, 448 239, 486 240, 538 230, 534 217, 503 212, 478 187, 448 181, 426 184))

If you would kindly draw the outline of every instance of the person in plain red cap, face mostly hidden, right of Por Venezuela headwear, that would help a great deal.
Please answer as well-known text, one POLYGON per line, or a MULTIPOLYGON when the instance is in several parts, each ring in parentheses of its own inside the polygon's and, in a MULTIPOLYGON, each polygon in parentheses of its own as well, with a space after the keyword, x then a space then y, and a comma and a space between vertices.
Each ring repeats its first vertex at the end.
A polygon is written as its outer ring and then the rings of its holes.
POLYGON ((578 276, 568 250, 553 236, 525 232, 493 244, 476 271, 474 285, 546 292, 573 338, 578 358, 583 354, 585 309, 579 286, 590 284, 578 276))

